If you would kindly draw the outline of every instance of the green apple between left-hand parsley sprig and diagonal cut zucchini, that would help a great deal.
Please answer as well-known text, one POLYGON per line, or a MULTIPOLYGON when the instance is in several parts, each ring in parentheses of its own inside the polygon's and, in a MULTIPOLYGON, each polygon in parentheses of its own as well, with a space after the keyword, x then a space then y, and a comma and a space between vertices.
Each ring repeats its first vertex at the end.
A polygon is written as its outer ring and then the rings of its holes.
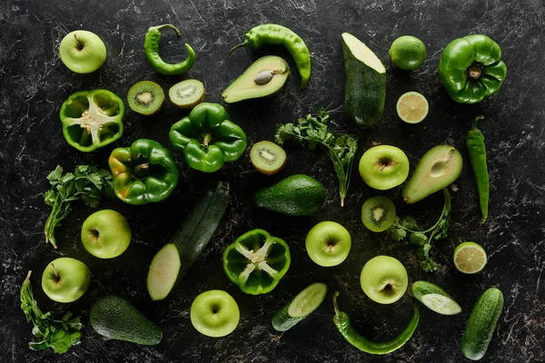
POLYGON ((129 247, 131 227, 117 211, 97 211, 84 221, 82 243, 93 256, 113 259, 129 247))

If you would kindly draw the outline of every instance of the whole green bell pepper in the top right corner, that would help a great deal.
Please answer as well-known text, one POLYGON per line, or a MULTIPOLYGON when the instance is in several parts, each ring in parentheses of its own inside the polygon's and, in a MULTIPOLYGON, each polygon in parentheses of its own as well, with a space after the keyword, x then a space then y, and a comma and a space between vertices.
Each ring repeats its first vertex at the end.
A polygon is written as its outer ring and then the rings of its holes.
POLYGON ((439 76, 458 103, 478 103, 500 91, 507 76, 500 45, 486 35, 454 39, 441 54, 439 76))

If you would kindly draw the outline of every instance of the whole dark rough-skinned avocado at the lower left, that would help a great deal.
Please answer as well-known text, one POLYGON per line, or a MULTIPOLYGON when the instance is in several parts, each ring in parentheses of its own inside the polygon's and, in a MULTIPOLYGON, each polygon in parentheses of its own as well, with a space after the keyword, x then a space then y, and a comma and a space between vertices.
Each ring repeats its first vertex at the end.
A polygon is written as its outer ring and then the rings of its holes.
POLYGON ((116 340, 152 346, 163 338, 163 330, 120 296, 98 299, 89 316, 91 326, 100 335, 116 340))

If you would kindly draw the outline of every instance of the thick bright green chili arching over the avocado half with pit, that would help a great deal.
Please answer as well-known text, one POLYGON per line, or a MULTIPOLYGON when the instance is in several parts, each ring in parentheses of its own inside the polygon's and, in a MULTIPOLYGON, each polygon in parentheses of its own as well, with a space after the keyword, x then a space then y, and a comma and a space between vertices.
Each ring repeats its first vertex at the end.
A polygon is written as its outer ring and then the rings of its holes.
POLYGON ((244 43, 233 46, 227 56, 241 46, 247 46, 255 51, 263 45, 282 44, 290 51, 295 64, 297 64, 299 75, 301 75, 301 89, 309 82, 311 77, 311 54, 302 38, 292 30, 276 24, 257 25, 245 35, 245 38, 244 43))

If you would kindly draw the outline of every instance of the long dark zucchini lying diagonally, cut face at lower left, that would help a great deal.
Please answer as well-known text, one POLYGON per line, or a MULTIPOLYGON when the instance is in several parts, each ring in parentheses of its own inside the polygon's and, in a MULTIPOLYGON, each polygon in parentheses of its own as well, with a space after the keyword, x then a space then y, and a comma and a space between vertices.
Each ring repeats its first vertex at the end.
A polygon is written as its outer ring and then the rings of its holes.
POLYGON ((153 300, 166 298, 191 269, 222 221, 228 201, 229 183, 210 184, 170 242, 155 254, 147 276, 147 289, 153 300))

